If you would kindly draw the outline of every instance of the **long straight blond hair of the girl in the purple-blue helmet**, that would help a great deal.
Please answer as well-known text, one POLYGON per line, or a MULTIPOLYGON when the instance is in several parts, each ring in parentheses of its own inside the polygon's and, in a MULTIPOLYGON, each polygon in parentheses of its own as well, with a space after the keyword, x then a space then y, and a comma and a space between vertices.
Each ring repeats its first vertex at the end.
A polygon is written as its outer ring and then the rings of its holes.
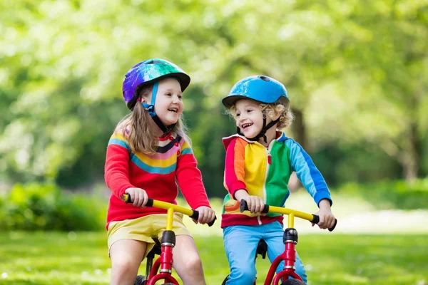
MULTIPOLYGON (((141 88, 138 98, 149 98, 153 90, 153 84, 141 88)), ((183 114, 178 118, 171 133, 176 133, 186 142, 190 144, 187 128, 183 123, 183 114)), ((148 110, 143 108, 141 102, 136 102, 133 111, 126 115, 116 126, 115 132, 121 132, 123 137, 126 138, 131 152, 143 152, 148 155, 156 153, 158 148, 158 137, 152 128, 152 118, 148 114, 148 110)))

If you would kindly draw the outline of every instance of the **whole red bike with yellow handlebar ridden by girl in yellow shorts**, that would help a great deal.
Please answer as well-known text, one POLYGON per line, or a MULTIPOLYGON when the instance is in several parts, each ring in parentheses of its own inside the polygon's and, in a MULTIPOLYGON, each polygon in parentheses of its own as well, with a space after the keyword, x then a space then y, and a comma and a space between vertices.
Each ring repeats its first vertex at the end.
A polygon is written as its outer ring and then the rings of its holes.
MULTIPOLYGON (((124 194, 122 199, 126 203, 132 203, 131 197, 128 194, 124 194)), ((199 212, 194 209, 187 209, 176 204, 154 199, 148 199, 146 207, 166 209, 168 211, 166 214, 166 227, 165 231, 162 233, 161 242, 159 242, 157 238, 153 238, 155 241, 155 247, 153 247, 151 252, 147 255, 146 275, 138 275, 134 285, 155 285, 159 280, 163 280, 163 284, 165 285, 179 285, 178 281, 171 275, 173 269, 173 247, 175 246, 175 233, 172 230, 173 214, 174 212, 178 212, 186 214, 192 219, 198 220, 199 212), (153 259, 156 254, 158 254, 159 257, 153 264, 153 259), (161 270, 159 270, 159 268, 161 268, 161 270)), ((209 222, 208 226, 211 227, 214 224, 215 219, 217 219, 217 217, 215 217, 213 221, 209 222)))

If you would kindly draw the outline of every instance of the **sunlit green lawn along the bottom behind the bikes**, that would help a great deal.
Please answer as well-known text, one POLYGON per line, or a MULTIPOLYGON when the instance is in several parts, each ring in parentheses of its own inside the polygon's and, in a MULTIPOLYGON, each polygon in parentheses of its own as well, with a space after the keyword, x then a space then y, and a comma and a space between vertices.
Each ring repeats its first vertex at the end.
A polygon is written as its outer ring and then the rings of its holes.
MULTIPOLYGON (((228 262, 221 237, 195 237, 208 285, 228 262)), ((310 284, 428 284, 428 235, 300 234, 310 284)), ((269 262, 258 259, 258 284, 269 262)), ((141 266, 141 272, 143 266, 141 266)), ((106 233, 0 234, 0 284, 108 284, 106 233)))

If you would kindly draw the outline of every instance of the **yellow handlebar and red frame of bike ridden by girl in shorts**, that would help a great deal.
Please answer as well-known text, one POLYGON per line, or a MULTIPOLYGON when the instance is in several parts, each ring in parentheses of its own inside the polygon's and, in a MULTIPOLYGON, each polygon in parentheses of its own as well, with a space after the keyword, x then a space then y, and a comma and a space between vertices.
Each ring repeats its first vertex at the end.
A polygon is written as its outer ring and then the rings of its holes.
MULTIPOLYGON (((128 194, 123 195, 123 201, 131 203, 131 197, 128 194)), ((146 207, 157 207, 166 209, 166 227, 161 238, 161 255, 154 262, 148 279, 145 281, 147 285, 155 285, 157 281, 164 280, 164 283, 172 283, 179 285, 178 281, 172 276, 173 269, 173 247, 175 246, 175 233, 173 232, 173 217, 174 212, 188 215, 192 219, 198 219, 199 212, 193 209, 180 207, 176 204, 162 202, 154 199, 148 199, 146 207), (159 270, 159 268, 161 268, 159 270), (159 273, 158 273, 159 271, 159 273)), ((215 219, 214 219, 215 220, 215 219)), ((214 220, 208 223, 209 226, 214 224, 214 220)))

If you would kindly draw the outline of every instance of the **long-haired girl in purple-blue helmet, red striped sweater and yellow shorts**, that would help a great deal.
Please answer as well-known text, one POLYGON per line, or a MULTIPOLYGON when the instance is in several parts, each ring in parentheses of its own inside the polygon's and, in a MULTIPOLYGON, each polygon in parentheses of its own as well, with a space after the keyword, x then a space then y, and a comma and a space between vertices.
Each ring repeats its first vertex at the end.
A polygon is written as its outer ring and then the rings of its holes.
MULTIPOLYGON (((105 179, 111 189, 107 212, 111 284, 134 284, 138 267, 165 229, 166 210, 145 207, 148 197, 176 204, 178 186, 199 212, 197 222, 215 218, 185 134, 183 91, 190 77, 174 63, 152 58, 133 66, 123 80, 132 111, 111 136, 105 179), (133 204, 122 201, 127 193, 133 204)), ((205 285, 202 263, 182 215, 174 214, 173 267, 187 285, 205 285)))

